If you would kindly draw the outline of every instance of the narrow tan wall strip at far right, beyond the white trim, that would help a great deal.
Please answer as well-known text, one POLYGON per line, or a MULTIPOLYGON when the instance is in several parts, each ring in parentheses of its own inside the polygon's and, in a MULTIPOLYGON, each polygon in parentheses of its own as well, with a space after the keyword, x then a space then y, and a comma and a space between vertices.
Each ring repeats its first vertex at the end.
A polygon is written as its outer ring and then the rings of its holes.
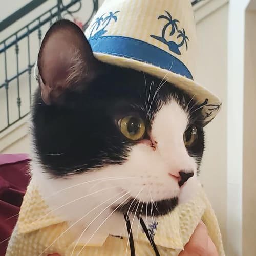
MULTIPOLYGON (((256 2, 256 1, 254 1, 256 2)), ((243 255, 256 255, 256 11, 245 19, 244 146, 243 146, 243 255)))

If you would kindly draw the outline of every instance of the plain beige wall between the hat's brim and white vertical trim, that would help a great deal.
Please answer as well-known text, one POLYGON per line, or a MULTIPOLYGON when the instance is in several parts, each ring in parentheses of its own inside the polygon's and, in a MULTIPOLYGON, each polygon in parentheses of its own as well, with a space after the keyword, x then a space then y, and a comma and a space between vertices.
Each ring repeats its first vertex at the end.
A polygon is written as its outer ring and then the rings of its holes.
MULTIPOLYGON (((206 150, 201 167, 201 181, 216 211, 224 246, 226 245, 226 98, 227 98, 227 24, 228 4, 197 24, 198 59, 195 80, 216 93, 222 110, 206 126, 206 150)), ((231 255, 230 255, 231 256, 231 255)))

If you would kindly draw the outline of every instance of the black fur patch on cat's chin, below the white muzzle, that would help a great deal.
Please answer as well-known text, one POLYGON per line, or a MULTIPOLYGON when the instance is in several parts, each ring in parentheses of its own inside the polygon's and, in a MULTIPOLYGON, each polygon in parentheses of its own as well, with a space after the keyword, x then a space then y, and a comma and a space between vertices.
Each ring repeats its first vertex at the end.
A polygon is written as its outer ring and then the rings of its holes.
POLYGON ((137 199, 131 198, 127 203, 113 207, 122 214, 136 214, 136 215, 147 215, 147 216, 161 216, 168 214, 178 205, 178 197, 164 199, 155 202, 140 202, 137 199))

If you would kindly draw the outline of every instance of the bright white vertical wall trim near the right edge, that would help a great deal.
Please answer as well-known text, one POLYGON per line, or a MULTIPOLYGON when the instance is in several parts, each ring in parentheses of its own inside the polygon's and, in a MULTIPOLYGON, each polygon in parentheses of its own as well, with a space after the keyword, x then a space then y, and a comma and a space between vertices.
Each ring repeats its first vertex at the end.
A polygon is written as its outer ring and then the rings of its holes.
MULTIPOLYGON (((245 71, 245 11, 250 0, 230 0, 228 27, 228 90, 227 90, 227 253, 229 255, 254 255, 251 247, 249 254, 244 254, 244 237, 251 234, 245 231, 245 212, 248 213, 248 199, 243 195, 243 189, 249 190, 250 184, 244 183, 243 147, 247 147, 244 130, 244 86, 245 71), (238 18, 239 17, 239 18, 238 18), (244 200, 244 202, 243 202, 244 200), (247 209, 244 207, 247 206, 247 209)), ((254 30, 255 24, 251 26, 254 30)), ((252 37, 250 37, 252 38, 252 37)), ((246 50, 247 51, 247 50, 246 50)), ((253 54, 247 53, 247 54, 253 54)), ((251 65, 250 63, 248 65, 251 65)), ((250 74, 250 71, 248 71, 250 74)), ((251 75, 251 74, 250 74, 251 75)), ((249 79, 252 77, 250 76, 249 79)), ((248 88, 247 88, 248 89, 248 88)), ((253 90, 251 91, 253 93, 253 90)), ((246 105, 245 105, 246 107, 246 105)), ((252 111, 254 111, 252 109, 252 111)), ((248 130, 248 127, 246 127, 248 130)), ((249 130, 250 131, 250 130, 249 130)), ((253 139, 253 137, 251 137, 253 139)), ((250 144, 248 145, 250 147, 250 144)), ((249 155, 248 159, 250 159, 249 155)), ((247 160, 248 160, 247 159, 247 160)), ((252 166, 248 166, 252 168, 252 166)), ((250 172, 250 170, 248 170, 250 172)), ((247 176, 247 175, 246 175, 247 176)), ((251 174, 250 176, 251 177, 251 174)), ((251 216, 251 220, 255 216, 251 216)), ((251 225, 253 227, 253 225, 251 225)), ((252 232, 255 233, 255 230, 252 232)), ((254 239, 253 239, 254 240, 254 239)), ((252 240, 249 240, 252 241, 252 240)), ((255 244, 255 242, 253 242, 255 244)), ((253 246, 253 244, 251 246, 253 246)), ((248 252, 248 251, 247 251, 248 252)))

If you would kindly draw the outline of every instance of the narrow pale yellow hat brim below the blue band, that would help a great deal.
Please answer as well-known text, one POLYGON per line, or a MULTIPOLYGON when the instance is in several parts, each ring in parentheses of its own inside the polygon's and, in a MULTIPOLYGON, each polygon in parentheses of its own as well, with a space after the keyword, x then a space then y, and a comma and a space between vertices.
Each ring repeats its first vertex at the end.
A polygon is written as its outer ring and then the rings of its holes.
POLYGON ((104 63, 143 71, 147 74, 156 76, 164 81, 166 80, 167 82, 174 84, 174 86, 185 91, 197 102, 198 105, 201 106, 205 125, 214 119, 221 109, 221 100, 214 93, 184 76, 132 58, 97 52, 94 52, 93 54, 98 60, 104 63))

